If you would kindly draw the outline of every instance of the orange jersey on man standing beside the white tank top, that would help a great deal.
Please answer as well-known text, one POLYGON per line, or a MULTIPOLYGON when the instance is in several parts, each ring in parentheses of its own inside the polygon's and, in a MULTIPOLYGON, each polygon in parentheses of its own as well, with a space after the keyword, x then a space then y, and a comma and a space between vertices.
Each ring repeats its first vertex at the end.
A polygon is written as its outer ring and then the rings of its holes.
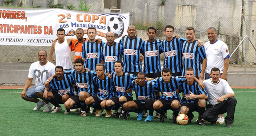
POLYGON ((83 43, 85 41, 88 41, 89 39, 85 39, 84 41, 82 41, 81 43, 78 41, 78 39, 74 39, 72 41, 72 45, 71 45, 71 51, 75 51, 75 59, 74 62, 77 58, 82 58, 82 54, 83 54, 83 43))

